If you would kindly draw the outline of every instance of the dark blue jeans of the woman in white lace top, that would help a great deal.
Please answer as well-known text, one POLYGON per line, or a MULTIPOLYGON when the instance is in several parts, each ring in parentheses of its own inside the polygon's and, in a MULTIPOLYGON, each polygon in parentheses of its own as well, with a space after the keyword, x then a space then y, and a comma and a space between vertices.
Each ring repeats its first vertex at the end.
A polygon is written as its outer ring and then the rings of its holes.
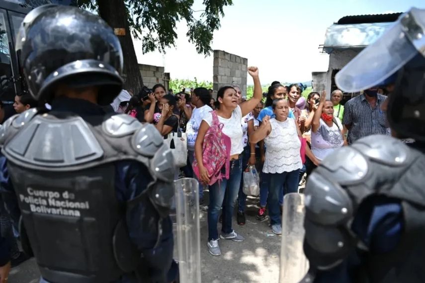
POLYGON ((299 172, 300 170, 297 169, 291 172, 268 174, 270 175, 270 187, 267 203, 271 225, 282 223, 282 217, 279 210, 280 196, 283 195, 283 193, 298 192, 299 172))

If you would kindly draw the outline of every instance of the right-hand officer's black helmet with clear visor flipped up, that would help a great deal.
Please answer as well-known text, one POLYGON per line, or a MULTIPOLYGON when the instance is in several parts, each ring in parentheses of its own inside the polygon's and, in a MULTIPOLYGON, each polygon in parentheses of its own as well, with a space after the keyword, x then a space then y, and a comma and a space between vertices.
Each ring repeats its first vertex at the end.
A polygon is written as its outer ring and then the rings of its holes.
POLYGON ((402 14, 335 79, 347 92, 395 83, 387 108, 391 128, 402 138, 425 141, 425 9, 402 14))

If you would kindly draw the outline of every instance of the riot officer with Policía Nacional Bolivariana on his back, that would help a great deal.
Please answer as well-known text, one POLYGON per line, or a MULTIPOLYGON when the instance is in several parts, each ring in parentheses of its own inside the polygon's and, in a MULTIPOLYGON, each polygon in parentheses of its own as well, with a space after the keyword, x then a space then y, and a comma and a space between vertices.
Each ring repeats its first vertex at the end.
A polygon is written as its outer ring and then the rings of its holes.
POLYGON ((0 181, 42 282, 171 282, 173 159, 160 133, 106 115, 123 55, 113 30, 76 7, 41 6, 16 48, 30 109, 0 133, 0 181))

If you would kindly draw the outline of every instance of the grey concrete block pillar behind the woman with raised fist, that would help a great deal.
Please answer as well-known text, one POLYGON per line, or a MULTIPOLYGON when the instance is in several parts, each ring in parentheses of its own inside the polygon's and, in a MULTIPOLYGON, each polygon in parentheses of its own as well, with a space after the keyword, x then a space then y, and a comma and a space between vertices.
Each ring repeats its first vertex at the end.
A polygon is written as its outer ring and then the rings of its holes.
POLYGON ((248 59, 222 50, 214 50, 213 89, 237 84, 242 95, 247 95, 248 59))

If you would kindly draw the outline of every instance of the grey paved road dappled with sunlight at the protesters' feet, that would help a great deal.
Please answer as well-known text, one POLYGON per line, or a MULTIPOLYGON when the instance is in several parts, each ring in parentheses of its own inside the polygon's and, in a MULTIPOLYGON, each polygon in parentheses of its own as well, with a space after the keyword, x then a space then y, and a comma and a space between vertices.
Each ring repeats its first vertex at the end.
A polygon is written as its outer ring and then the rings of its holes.
MULTIPOLYGON (((207 199, 208 193, 206 194, 207 199)), ((257 198, 247 201, 247 224, 234 229, 242 234, 244 242, 220 240, 222 255, 214 257, 208 253, 208 229, 206 212, 201 213, 201 261, 204 283, 277 283, 279 278, 279 256, 281 236, 271 232, 268 217, 264 221, 255 219, 257 198)), ((219 231, 220 231, 219 223, 219 231)), ((12 269, 10 283, 36 283, 39 273, 34 259, 12 269)))

